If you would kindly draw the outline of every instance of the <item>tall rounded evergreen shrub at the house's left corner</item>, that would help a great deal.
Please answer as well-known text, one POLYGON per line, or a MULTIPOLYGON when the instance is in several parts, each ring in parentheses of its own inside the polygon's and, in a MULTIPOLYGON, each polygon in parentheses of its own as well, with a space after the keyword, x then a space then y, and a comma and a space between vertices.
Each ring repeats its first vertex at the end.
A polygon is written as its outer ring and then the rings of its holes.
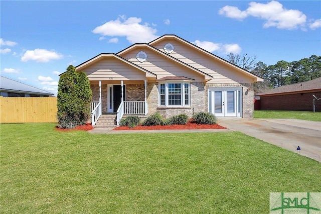
POLYGON ((60 75, 57 94, 59 128, 72 129, 86 124, 90 115, 92 92, 87 75, 69 65, 60 75))

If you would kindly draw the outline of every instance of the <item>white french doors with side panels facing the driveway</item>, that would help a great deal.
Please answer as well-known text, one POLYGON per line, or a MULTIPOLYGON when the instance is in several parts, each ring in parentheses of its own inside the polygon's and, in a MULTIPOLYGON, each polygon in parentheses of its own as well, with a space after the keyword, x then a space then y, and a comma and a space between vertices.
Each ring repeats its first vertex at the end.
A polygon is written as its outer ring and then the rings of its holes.
POLYGON ((217 117, 242 117, 242 88, 209 88, 209 112, 217 117))

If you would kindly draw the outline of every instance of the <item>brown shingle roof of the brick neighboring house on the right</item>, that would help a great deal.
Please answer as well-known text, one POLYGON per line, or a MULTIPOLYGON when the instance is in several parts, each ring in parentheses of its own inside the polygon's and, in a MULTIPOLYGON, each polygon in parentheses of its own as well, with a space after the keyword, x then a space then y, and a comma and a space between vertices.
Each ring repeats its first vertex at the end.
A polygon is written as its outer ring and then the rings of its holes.
POLYGON ((321 90, 321 77, 315 78, 306 82, 283 85, 283 86, 265 91, 263 93, 259 93, 257 95, 260 96, 260 95, 268 95, 268 94, 275 94, 275 93, 301 92, 301 91, 318 90, 318 89, 321 90))

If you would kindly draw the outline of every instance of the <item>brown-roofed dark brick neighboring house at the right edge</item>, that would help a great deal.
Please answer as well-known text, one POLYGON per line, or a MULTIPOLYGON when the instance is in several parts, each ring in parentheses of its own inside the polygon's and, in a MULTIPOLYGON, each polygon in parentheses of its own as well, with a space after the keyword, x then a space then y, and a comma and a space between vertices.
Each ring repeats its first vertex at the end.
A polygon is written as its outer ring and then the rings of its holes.
MULTIPOLYGON (((313 111, 312 94, 321 97, 321 77, 259 93, 256 102, 261 110, 313 111)), ((321 112, 321 100, 315 100, 315 111, 321 112)))

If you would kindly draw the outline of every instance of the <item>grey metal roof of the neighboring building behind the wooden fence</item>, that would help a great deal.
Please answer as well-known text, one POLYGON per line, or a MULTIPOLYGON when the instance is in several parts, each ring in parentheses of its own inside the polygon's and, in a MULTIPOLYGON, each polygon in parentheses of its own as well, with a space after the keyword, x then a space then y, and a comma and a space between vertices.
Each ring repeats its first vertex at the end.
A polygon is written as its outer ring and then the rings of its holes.
POLYGON ((54 95, 48 91, 0 76, 0 91, 16 92, 16 93, 29 93, 40 95, 54 95))

